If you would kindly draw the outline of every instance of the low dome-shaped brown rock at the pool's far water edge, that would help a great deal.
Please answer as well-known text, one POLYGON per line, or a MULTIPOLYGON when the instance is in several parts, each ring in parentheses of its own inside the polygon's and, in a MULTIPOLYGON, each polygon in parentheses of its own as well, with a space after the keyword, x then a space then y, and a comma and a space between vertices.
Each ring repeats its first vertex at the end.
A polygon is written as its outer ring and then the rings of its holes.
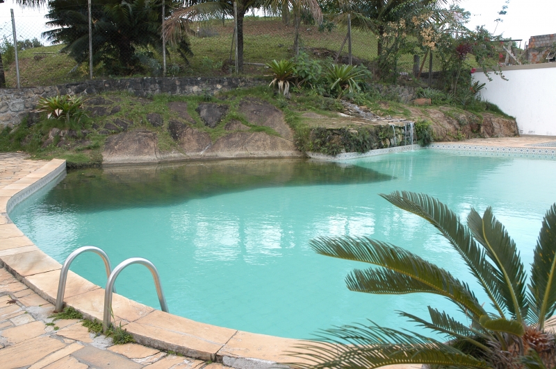
POLYGON ((296 157, 292 141, 264 132, 234 132, 220 137, 204 157, 296 157))

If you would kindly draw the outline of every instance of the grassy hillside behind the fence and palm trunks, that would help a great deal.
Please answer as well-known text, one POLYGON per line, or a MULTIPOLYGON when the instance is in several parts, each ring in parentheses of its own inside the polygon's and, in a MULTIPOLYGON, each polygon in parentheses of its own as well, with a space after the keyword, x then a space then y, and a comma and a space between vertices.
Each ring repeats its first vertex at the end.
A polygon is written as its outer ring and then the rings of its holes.
MULTIPOLYGON (((230 47, 234 31, 234 22, 227 20, 213 22, 208 29, 201 29, 200 35, 190 37, 193 57, 184 62, 177 55, 170 53, 167 60, 168 75, 172 76, 226 76, 230 74, 226 62, 230 57, 230 47), (210 36, 210 37, 206 37, 210 36)), ((265 63, 272 59, 291 58, 293 56, 293 25, 286 26, 280 19, 270 17, 246 17, 244 28, 245 62, 265 63)), ((301 27, 302 46, 322 56, 336 53, 344 40, 346 30, 334 28, 332 32, 319 32, 314 25, 301 27), (332 51, 329 52, 329 51, 332 51)), ((81 65, 76 71, 76 62, 66 54, 60 53, 63 45, 45 46, 19 52, 19 73, 23 87, 36 87, 70 83, 88 78, 88 65, 81 65)), ((356 58, 373 60, 377 55, 377 39, 371 33, 354 30, 352 32, 352 51, 356 58)), ((347 44, 343 53, 347 53, 347 44)), ((161 57, 158 55, 162 63, 161 57)), ((412 58, 402 60, 406 69, 411 69, 412 58)), ((6 83, 15 87, 15 62, 6 65, 6 83)), ((266 74, 265 68, 245 65, 247 76, 266 74)), ((147 75, 149 73, 147 72, 147 75)), ((95 77, 103 76, 100 68, 95 77)))

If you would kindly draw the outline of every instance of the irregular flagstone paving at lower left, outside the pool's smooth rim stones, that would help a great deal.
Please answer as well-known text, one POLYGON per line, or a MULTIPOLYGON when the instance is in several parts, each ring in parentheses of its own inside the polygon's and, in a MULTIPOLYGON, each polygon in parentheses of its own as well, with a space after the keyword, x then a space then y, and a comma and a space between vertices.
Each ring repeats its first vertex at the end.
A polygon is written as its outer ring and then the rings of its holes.
POLYGON ((0 269, 1 368, 223 368, 136 343, 113 345, 112 338, 89 333, 81 320, 54 320, 52 314, 54 305, 0 269))

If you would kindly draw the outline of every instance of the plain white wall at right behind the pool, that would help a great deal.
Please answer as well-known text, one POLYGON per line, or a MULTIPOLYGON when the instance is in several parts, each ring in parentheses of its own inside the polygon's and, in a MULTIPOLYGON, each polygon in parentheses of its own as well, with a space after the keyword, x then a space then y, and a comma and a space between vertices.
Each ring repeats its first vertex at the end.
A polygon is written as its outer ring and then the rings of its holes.
POLYGON ((477 70, 475 80, 486 83, 481 96, 516 117, 523 135, 556 136, 556 63, 502 67, 492 81, 477 70))

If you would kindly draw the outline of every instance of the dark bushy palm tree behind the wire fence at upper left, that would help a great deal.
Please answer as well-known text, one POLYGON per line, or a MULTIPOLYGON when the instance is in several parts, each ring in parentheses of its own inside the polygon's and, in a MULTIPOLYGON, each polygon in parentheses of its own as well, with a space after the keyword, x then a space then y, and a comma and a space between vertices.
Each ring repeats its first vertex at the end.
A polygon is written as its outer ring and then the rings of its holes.
MULTIPOLYGON (((110 74, 127 75, 141 71, 149 58, 137 49, 150 46, 162 51, 162 5, 158 0, 97 0, 92 8, 92 62, 103 63, 110 74)), ((44 32, 49 40, 65 44, 62 51, 76 62, 89 58, 88 8, 86 0, 50 0, 50 19, 54 26, 44 32)), ((185 35, 174 37, 177 51, 187 61, 190 55, 185 35)))

